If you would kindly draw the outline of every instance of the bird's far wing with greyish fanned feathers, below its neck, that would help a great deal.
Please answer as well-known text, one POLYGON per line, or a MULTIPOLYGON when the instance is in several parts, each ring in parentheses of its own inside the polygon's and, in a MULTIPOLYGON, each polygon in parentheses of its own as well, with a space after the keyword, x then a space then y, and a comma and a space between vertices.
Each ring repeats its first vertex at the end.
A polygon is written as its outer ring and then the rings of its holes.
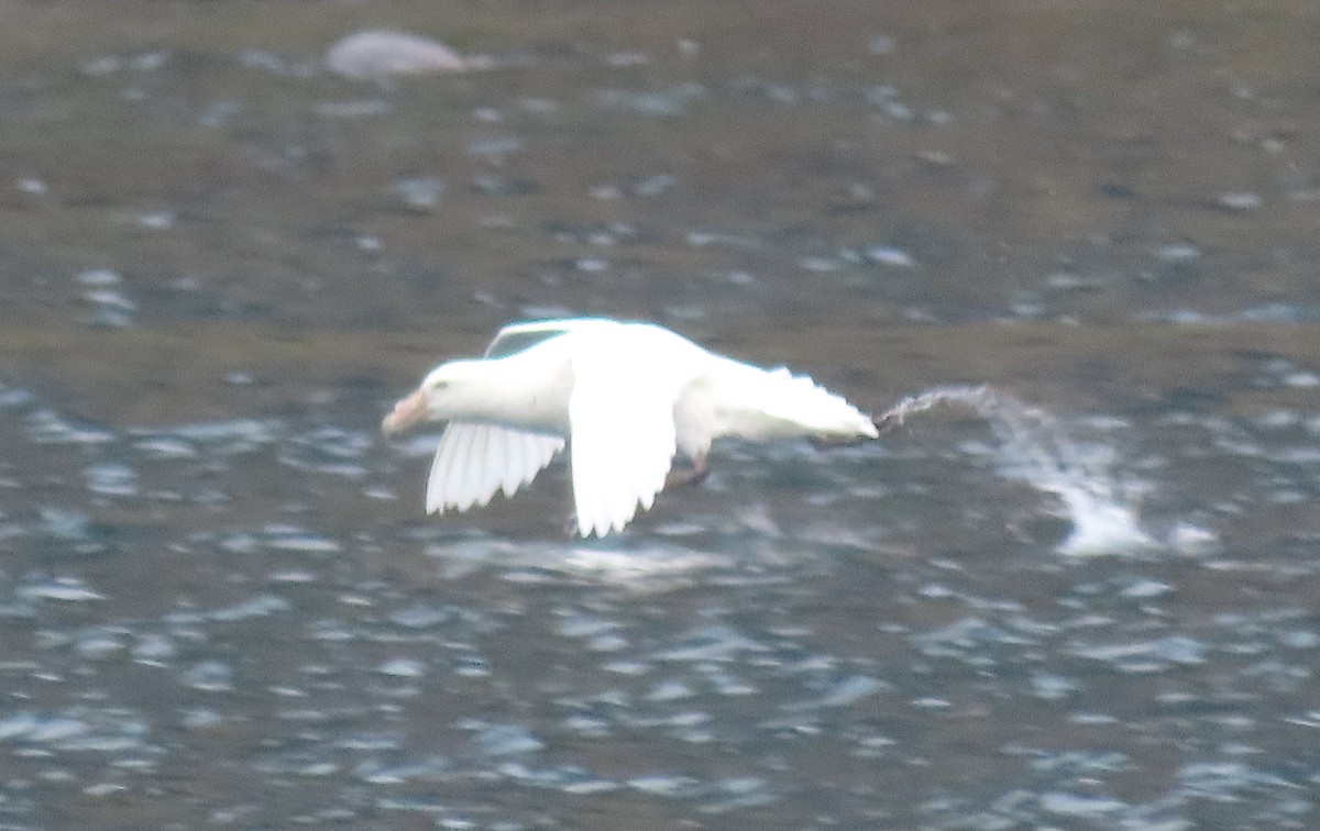
POLYGON ((467 510, 512 496, 550 463, 564 439, 496 425, 454 421, 445 427, 426 480, 426 513, 467 510))

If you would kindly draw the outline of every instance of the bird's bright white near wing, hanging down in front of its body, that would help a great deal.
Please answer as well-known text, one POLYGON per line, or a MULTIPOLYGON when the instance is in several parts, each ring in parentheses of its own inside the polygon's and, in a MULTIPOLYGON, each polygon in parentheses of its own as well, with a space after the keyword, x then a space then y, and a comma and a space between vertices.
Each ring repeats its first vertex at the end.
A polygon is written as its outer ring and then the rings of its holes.
POLYGON ((578 533, 622 530, 651 508, 673 464, 673 405, 686 377, 628 351, 582 350, 573 359, 569 423, 578 533))

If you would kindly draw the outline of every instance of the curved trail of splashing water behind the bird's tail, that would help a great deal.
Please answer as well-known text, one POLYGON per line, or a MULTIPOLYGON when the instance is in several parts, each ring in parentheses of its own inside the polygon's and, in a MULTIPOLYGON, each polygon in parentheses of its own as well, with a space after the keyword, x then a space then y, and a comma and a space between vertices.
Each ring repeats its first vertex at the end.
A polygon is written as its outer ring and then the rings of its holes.
POLYGON ((1001 472, 1063 500, 1073 530, 1059 546, 1078 557, 1151 547, 1137 509, 1109 470, 1109 459, 1077 445, 1059 419, 990 386, 936 386, 903 398, 875 423, 882 430, 940 404, 970 408, 999 441, 1001 472))

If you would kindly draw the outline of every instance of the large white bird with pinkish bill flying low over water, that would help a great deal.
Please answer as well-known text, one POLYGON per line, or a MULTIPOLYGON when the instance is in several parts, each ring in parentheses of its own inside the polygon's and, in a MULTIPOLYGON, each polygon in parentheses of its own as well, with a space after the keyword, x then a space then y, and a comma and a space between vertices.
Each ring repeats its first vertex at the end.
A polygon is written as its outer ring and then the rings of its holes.
POLYGON ((512 496, 570 445, 577 530, 622 530, 667 484, 708 471, 725 435, 857 441, 875 422, 788 369, 709 352, 651 323, 603 318, 506 326, 484 357, 432 369, 381 422, 385 435, 447 419, 426 483, 426 513, 512 496), (693 468, 672 472, 682 451, 693 468))

